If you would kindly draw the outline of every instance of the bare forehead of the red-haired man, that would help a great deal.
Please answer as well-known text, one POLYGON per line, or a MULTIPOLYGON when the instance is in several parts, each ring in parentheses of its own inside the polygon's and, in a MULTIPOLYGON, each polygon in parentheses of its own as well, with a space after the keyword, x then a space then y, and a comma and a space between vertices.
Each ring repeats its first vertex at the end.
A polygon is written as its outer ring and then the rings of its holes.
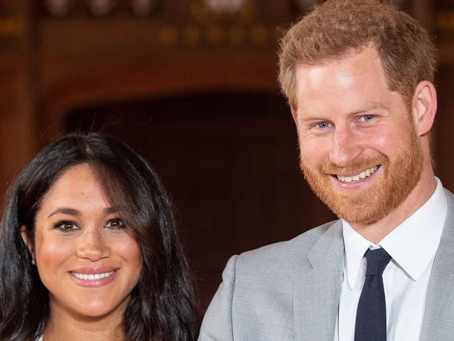
POLYGON ((386 110, 402 101, 391 91, 376 51, 331 61, 320 66, 299 66, 296 72, 298 113, 300 115, 349 115, 381 108, 386 110))

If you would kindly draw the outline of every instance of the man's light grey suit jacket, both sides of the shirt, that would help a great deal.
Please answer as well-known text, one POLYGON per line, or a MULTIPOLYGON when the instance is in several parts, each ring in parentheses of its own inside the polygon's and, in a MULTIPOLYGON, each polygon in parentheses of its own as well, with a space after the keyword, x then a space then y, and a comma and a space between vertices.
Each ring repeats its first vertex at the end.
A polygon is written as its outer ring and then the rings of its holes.
MULTIPOLYGON (((454 196, 447 190, 446 196, 421 341, 454 341, 454 196)), ((333 341, 343 267, 340 220, 233 256, 198 340, 333 341)))

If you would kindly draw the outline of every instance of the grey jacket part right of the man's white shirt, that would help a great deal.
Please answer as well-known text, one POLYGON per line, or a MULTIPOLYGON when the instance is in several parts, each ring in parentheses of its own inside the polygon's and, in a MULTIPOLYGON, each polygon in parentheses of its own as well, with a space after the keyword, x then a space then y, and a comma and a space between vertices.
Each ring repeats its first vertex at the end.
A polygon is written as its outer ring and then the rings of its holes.
POLYGON ((446 191, 448 212, 430 274, 421 341, 451 340, 454 321, 454 196, 446 191), (444 336, 445 335, 445 336, 444 336))

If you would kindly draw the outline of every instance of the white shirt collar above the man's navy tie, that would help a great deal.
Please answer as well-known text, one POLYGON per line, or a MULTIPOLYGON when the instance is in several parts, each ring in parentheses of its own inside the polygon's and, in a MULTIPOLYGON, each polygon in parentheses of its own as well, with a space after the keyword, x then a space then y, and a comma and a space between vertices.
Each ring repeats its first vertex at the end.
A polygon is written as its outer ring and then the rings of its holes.
MULTIPOLYGON (((443 231, 448 200, 441 181, 437 180, 434 194, 416 212, 393 229, 379 243, 412 280, 418 280, 437 252, 443 231)), ((345 270, 350 289, 358 278, 361 262, 367 248, 373 246, 342 220, 345 246, 345 270)))

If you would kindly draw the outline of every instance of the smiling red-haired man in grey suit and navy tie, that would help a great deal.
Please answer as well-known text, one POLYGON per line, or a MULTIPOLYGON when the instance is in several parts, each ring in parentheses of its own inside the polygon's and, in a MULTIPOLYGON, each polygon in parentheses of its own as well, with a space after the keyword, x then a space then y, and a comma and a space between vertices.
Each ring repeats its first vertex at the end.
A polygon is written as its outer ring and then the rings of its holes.
POLYGON ((328 0, 286 33, 279 66, 302 171, 339 220, 233 256, 199 340, 454 340, 430 36, 386 1, 328 0))

